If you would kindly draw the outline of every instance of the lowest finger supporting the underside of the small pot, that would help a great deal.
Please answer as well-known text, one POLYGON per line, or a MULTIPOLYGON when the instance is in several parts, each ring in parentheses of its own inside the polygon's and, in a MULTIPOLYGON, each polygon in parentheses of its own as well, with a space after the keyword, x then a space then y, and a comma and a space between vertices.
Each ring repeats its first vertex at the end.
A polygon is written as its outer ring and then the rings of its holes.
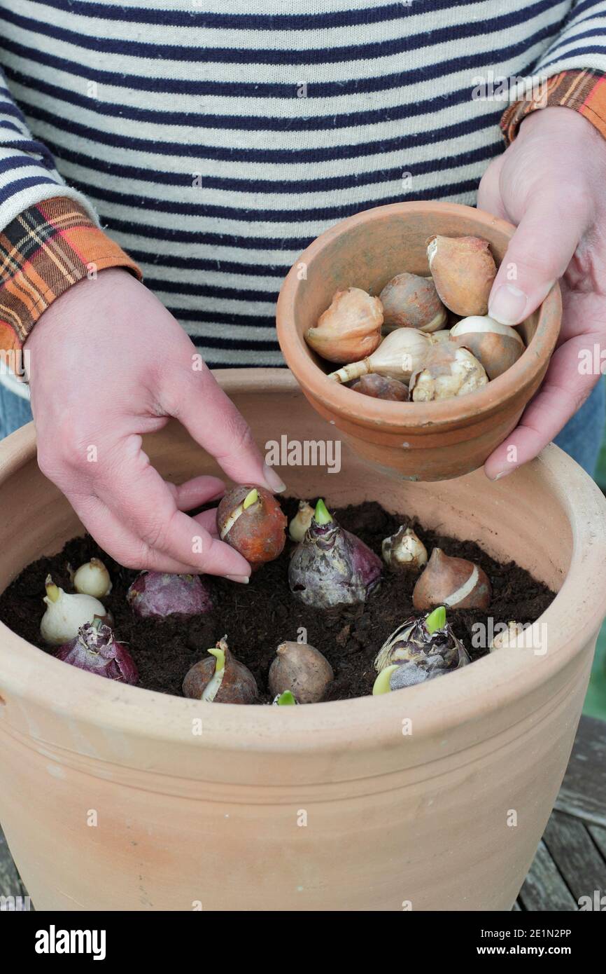
POLYGON ((599 372, 587 375, 579 367, 587 350, 588 336, 579 335, 553 354, 543 386, 519 426, 486 460, 489 480, 499 480, 533 460, 581 408, 600 378, 599 372))

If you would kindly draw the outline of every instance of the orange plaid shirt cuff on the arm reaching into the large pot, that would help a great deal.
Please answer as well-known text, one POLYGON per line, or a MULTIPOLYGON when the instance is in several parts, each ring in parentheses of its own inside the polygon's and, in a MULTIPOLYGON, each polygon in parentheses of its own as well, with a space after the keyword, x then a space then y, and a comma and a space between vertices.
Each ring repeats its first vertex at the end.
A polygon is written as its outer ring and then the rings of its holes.
POLYGON ((0 233, 0 358, 20 350, 34 324, 72 284, 107 267, 141 271, 68 197, 19 213, 0 233))

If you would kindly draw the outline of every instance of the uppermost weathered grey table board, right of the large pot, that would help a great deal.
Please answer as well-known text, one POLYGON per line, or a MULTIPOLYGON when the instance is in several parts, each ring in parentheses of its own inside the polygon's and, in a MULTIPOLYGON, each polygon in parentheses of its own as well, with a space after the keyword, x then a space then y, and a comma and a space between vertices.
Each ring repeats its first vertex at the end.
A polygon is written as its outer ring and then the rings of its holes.
POLYGON ((582 717, 555 802, 558 811, 606 826, 606 722, 582 717))

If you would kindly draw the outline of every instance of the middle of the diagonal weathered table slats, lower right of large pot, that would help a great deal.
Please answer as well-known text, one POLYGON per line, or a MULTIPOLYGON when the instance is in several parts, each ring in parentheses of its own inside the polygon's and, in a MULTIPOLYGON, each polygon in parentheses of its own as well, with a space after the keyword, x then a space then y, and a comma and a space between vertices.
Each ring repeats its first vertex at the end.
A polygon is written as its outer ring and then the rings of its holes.
POLYGON ((577 902, 606 889, 606 863, 591 841, 587 827, 578 818, 554 811, 543 842, 577 902))

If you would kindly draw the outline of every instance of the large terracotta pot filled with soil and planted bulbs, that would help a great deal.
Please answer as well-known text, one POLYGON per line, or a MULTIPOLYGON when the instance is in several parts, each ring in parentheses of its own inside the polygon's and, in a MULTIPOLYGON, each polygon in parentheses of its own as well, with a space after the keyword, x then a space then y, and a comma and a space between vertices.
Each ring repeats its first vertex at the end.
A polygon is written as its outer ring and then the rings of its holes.
MULTIPOLYGON (((220 375, 262 447, 334 432, 286 372, 220 375)), ((145 449, 177 482, 216 470, 177 425, 145 449)), ((558 590, 548 652, 502 650, 387 696, 202 705, 66 666, 1 626, 0 821, 38 909, 511 907, 606 611, 601 494, 556 447, 497 483, 399 483, 348 449, 339 476, 281 473, 297 494, 379 498, 516 559, 558 590)), ((0 587, 80 530, 31 427, 0 445, 0 507, 0 587)))

